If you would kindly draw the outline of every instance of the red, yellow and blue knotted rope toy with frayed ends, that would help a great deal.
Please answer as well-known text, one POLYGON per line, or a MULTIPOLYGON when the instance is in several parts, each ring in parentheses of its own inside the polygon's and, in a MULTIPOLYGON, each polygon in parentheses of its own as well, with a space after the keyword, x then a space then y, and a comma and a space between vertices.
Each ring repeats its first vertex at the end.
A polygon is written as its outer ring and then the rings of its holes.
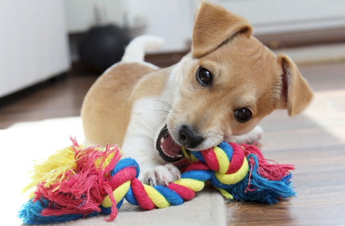
POLYGON ((190 163, 181 179, 168 186, 149 186, 138 180, 138 163, 122 158, 116 145, 72 145, 36 165, 33 197, 19 217, 26 224, 56 223, 102 213, 113 221, 124 198, 144 210, 180 205, 211 184, 226 198, 276 203, 295 195, 293 165, 268 163, 254 145, 222 142, 204 151, 183 150, 190 163))

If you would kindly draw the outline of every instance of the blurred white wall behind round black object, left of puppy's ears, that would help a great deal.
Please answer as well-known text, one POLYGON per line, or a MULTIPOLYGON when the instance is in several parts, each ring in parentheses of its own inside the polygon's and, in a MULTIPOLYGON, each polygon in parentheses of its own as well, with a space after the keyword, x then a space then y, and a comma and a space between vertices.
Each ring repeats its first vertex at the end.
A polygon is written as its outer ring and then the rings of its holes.
POLYGON ((133 34, 164 37, 163 51, 188 48, 192 35, 193 0, 65 0, 70 33, 86 32, 95 25, 94 5, 102 2, 109 23, 129 26, 133 34))

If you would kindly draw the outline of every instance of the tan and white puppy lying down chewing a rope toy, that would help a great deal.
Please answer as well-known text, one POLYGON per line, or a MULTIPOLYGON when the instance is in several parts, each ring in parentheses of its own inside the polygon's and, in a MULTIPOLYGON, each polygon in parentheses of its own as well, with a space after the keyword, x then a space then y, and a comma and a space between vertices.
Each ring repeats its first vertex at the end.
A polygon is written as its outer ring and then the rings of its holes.
MULTIPOLYGON (((275 109, 301 112, 312 98, 307 81, 288 57, 276 56, 251 33, 242 17, 202 2, 192 50, 176 65, 143 62, 144 50, 163 40, 134 39, 84 99, 86 139, 118 144, 138 161, 144 183, 168 184, 179 178, 169 163, 183 158, 181 146, 204 150, 250 132, 275 109)), ((260 135, 254 130, 249 141, 260 135)))

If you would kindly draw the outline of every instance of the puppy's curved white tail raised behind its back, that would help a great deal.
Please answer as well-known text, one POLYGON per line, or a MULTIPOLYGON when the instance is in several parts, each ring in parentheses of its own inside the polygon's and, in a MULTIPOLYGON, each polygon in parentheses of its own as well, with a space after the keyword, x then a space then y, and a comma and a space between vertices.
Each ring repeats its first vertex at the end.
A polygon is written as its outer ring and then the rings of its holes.
POLYGON ((126 47, 122 57, 122 62, 144 61, 145 51, 155 51, 160 49, 165 40, 158 36, 141 35, 134 38, 126 47))

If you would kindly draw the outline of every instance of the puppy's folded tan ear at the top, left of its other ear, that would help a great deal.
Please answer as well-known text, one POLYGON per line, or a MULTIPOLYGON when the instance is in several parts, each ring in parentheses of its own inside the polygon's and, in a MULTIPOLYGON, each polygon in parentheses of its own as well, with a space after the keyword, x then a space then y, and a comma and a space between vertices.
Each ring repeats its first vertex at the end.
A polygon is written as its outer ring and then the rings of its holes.
POLYGON ((247 20, 219 5, 202 1, 194 21, 193 57, 205 56, 238 32, 251 35, 247 20))

